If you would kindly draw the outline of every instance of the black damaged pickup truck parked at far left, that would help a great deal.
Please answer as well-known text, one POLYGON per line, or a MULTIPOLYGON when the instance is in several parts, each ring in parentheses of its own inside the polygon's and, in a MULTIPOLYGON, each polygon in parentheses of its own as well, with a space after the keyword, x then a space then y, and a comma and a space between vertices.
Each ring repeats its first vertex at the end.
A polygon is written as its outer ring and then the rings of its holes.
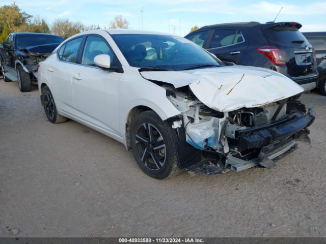
POLYGON ((41 33, 11 33, 0 45, 0 71, 5 81, 18 80, 21 92, 30 92, 37 82, 33 71, 63 39, 41 33))

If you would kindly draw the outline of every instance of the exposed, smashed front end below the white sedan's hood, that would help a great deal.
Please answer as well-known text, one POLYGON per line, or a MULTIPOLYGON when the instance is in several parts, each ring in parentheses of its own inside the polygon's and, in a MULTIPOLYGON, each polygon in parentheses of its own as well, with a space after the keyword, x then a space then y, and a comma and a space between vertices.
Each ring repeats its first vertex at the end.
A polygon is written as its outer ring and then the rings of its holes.
POLYGON ((170 123, 177 130, 179 162, 184 170, 217 174, 257 165, 271 168, 297 148, 295 141, 310 143, 307 128, 315 112, 291 97, 222 112, 202 103, 189 86, 162 87, 181 113, 170 118, 170 123))

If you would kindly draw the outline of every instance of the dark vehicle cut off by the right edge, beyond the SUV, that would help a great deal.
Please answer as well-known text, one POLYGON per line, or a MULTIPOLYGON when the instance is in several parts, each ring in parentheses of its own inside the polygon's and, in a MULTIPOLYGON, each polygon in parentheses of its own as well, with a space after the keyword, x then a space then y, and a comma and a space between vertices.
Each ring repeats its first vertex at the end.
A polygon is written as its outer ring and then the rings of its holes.
POLYGON ((326 96, 326 32, 306 32, 302 34, 315 49, 319 73, 317 87, 319 87, 320 93, 326 96))

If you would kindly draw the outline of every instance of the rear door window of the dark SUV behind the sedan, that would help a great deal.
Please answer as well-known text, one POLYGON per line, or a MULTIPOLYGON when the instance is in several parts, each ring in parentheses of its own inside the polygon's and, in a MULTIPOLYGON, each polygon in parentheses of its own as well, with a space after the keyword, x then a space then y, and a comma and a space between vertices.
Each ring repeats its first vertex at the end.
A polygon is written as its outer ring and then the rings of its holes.
POLYGON ((218 48, 243 42, 241 32, 236 29, 216 29, 208 48, 218 48))

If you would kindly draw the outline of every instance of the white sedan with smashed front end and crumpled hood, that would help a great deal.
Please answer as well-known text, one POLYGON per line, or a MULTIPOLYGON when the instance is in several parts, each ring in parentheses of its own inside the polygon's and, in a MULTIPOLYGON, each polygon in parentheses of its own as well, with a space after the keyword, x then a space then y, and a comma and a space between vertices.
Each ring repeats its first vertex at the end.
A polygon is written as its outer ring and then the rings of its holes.
POLYGON ((51 123, 70 118, 118 140, 157 179, 271 168, 296 141, 310 142, 315 118, 293 99, 304 89, 286 76, 221 62, 169 34, 80 33, 35 75, 51 123))

